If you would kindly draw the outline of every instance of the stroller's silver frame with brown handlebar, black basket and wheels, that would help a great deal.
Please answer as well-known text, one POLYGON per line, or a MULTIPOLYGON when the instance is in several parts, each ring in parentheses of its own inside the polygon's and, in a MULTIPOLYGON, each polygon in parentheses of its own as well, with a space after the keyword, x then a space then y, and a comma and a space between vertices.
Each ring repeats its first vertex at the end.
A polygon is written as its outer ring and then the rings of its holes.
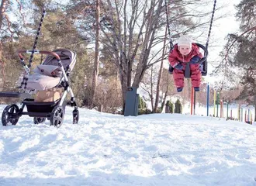
MULTIPOLYGON (((24 67, 26 71, 26 76, 29 76, 30 69, 27 67, 27 65, 24 62, 24 59, 22 57, 22 53, 41 53, 41 54, 48 54, 56 57, 57 64, 59 67, 61 67, 62 71, 62 77, 61 81, 57 86, 60 84, 64 88, 64 93, 61 97, 61 99, 58 99, 54 102, 34 102, 33 98, 28 98, 29 93, 24 92, 0 92, 0 97, 12 97, 12 98, 25 98, 22 101, 22 106, 19 108, 16 104, 7 105, 2 112, 2 125, 7 126, 9 124, 16 125, 16 123, 19 120, 19 117, 22 115, 29 115, 31 117, 34 117, 34 123, 38 124, 40 122, 44 122, 46 119, 50 120, 50 126, 56 126, 60 127, 64 120, 64 111, 65 106, 67 105, 67 102, 65 102, 65 98, 67 97, 67 93, 71 95, 71 101, 70 105, 71 107, 74 106, 73 110, 73 124, 78 123, 79 120, 79 112, 78 112, 78 105, 74 101, 74 93, 69 85, 69 81, 67 76, 70 73, 70 69, 67 69, 67 71, 64 70, 64 67, 61 63, 61 57, 52 51, 46 51, 46 50, 18 50, 20 63, 24 67), (67 73, 67 74, 66 74, 67 73), (23 109, 27 108, 28 112, 23 112, 23 109)), ((27 79, 27 77, 26 77, 27 79)), ((26 83, 25 83, 26 85, 26 83)), ((56 86, 56 87, 57 87, 56 86)))

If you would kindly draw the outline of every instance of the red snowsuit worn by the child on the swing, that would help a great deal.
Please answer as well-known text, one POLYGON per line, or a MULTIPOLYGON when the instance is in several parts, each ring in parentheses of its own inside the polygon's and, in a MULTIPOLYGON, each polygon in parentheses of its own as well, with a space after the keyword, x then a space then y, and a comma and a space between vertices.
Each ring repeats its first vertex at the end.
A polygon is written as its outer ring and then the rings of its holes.
MULTIPOLYGON (((199 52, 199 47, 195 45, 195 43, 192 43, 192 50, 190 53, 186 56, 183 56, 182 53, 178 50, 178 45, 175 44, 174 49, 171 50, 169 54, 169 63, 171 67, 174 67, 173 70, 173 77, 175 79, 175 85, 177 88, 183 88, 184 87, 184 74, 185 74, 185 63, 189 62, 192 57, 198 56, 202 59, 202 53, 199 52), (177 70, 175 66, 182 63, 182 70, 177 70)), ((190 71, 191 71, 191 81, 192 81, 192 87, 200 87, 201 83, 201 71, 199 70, 200 64, 190 64, 190 71)))

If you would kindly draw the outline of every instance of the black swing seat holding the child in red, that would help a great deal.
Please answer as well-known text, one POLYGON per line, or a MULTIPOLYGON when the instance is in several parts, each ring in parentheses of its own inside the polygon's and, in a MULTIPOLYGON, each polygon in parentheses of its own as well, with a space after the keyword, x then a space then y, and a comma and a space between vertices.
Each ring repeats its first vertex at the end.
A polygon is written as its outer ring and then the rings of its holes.
MULTIPOLYGON (((206 47, 204 47, 202 44, 199 43, 195 43, 199 48, 202 48, 202 50, 204 51, 204 56, 202 57, 201 60, 199 60, 199 62, 197 64, 200 64, 200 71, 202 76, 206 76, 207 75, 207 56, 208 56, 208 51, 206 50, 206 47)), ((185 68, 185 77, 186 78, 190 78, 190 67, 189 67, 189 63, 187 64, 188 67, 185 68)), ((171 65, 169 66, 169 74, 172 74, 174 68, 171 67, 171 65)))

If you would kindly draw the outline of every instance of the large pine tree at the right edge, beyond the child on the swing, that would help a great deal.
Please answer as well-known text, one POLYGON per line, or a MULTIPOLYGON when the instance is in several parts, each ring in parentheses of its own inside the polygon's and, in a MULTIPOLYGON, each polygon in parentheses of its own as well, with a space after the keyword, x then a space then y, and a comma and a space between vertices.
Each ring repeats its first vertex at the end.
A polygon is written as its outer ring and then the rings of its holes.
MULTIPOLYGON (((244 100, 249 105, 256 106, 256 27, 255 10, 256 0, 243 0, 237 5, 237 19, 240 20, 240 31, 242 34, 230 34, 230 43, 227 43, 228 56, 226 57, 229 66, 237 67, 240 73, 240 84, 243 89, 237 100, 244 100)), ((234 74, 233 74, 233 77, 234 74)), ((256 110, 255 110, 256 119, 256 110)))

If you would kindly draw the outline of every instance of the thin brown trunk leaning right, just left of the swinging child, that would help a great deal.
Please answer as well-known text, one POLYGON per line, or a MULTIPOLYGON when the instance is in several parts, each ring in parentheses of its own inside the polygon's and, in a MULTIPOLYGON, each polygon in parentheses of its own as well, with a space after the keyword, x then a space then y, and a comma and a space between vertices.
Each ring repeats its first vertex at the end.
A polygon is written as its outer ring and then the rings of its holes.
POLYGON ((157 92, 156 92, 156 98, 155 98, 155 102, 154 102, 153 113, 157 113, 157 108, 158 108, 160 83, 161 83, 161 77, 162 77, 162 74, 163 74, 163 64, 164 64, 164 53, 165 53, 165 43, 166 43, 167 29, 168 29, 168 26, 165 27, 164 47, 163 47, 161 65, 160 65, 160 69, 159 69, 159 73, 158 73, 157 92))

